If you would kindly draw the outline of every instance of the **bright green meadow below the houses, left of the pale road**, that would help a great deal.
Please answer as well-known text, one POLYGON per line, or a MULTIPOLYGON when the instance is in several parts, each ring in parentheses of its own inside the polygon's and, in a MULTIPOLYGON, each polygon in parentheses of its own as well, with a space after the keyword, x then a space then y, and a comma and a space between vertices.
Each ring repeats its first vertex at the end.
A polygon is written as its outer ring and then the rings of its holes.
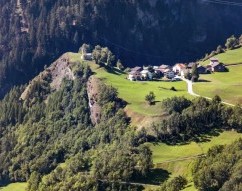
MULTIPOLYGON (((80 54, 69 54, 75 61, 80 61, 80 54)), ((118 89, 119 97, 128 102, 126 110, 135 112, 143 116, 161 116, 161 101, 172 96, 188 96, 186 83, 167 82, 167 81, 135 81, 126 79, 127 74, 119 70, 108 71, 105 68, 99 68, 93 62, 88 62, 96 76, 104 80, 107 84, 118 89), (175 87, 177 91, 170 90, 175 87), (145 96, 153 91, 156 95, 156 104, 149 106, 145 102, 145 96)))

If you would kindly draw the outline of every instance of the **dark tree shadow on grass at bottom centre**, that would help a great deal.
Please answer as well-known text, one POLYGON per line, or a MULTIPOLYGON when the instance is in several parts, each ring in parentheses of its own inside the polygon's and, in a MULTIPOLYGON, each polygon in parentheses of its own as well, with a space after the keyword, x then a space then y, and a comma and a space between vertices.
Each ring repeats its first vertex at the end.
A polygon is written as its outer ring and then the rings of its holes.
POLYGON ((134 182, 142 184, 160 185, 170 177, 170 173, 167 170, 156 168, 152 169, 146 177, 137 176, 134 178, 134 182))

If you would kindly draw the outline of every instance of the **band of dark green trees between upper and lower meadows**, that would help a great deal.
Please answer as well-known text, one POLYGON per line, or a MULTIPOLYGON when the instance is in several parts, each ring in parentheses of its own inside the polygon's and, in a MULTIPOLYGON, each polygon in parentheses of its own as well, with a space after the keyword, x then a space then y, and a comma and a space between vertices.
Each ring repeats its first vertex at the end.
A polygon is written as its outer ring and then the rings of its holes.
POLYGON ((199 97, 194 100, 185 97, 168 98, 162 103, 167 117, 152 125, 156 139, 168 143, 199 140, 201 134, 214 130, 242 131, 242 108, 229 107, 215 96, 211 101, 199 97))

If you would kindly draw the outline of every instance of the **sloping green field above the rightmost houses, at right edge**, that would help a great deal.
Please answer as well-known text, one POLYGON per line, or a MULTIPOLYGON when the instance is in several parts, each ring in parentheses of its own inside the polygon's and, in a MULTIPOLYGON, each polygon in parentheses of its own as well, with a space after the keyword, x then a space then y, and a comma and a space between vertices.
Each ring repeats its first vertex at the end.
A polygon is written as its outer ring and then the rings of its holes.
MULTIPOLYGON (((225 53, 218 54, 215 57, 219 59, 220 62, 224 64, 240 64, 242 63, 242 48, 235 50, 228 50, 225 53)), ((209 64, 209 60, 200 62, 202 65, 209 64)))

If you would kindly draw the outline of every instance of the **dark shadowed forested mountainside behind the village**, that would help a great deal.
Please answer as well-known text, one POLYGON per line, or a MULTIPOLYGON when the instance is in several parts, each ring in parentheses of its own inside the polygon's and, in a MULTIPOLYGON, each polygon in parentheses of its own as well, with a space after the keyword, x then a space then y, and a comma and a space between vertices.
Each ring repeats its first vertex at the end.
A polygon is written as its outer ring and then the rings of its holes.
POLYGON ((202 0, 1 0, 0 16, 1 95, 83 42, 126 65, 159 65, 201 57, 242 30, 241 7, 202 0))

